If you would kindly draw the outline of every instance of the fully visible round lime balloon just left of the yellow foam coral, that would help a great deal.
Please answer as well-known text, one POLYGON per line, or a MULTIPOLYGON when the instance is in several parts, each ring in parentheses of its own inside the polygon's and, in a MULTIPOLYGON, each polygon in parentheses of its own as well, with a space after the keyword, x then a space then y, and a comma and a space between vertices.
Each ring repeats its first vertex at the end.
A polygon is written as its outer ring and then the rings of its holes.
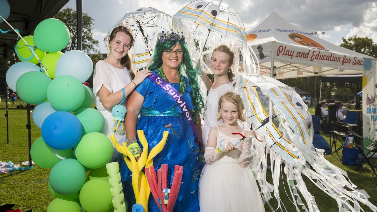
POLYGON ((79 142, 75 149, 77 160, 90 169, 104 166, 113 155, 113 145, 110 139, 102 133, 90 132, 79 142))

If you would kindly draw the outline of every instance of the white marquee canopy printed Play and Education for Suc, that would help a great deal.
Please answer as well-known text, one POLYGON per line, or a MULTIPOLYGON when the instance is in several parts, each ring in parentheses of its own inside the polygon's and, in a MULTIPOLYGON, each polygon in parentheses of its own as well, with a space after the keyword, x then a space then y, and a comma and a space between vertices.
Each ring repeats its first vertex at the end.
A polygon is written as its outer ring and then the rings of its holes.
POLYGON ((261 64, 259 74, 277 79, 362 74, 364 59, 375 60, 311 35, 276 12, 247 32, 247 43, 261 64))

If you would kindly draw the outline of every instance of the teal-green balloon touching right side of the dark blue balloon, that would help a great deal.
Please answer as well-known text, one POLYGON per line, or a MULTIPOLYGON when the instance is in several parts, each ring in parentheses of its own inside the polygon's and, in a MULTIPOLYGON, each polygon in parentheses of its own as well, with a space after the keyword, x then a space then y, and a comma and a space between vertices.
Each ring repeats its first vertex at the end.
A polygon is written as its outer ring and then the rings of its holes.
POLYGON ((74 115, 80 120, 83 127, 83 135, 90 132, 101 132, 105 119, 100 111, 94 108, 83 108, 77 110, 74 115))

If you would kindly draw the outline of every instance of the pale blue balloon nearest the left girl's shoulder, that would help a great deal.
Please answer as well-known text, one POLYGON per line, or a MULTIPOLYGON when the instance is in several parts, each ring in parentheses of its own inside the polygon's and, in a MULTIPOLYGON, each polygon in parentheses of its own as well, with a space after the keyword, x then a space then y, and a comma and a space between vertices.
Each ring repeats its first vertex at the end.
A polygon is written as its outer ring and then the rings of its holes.
POLYGON ((79 50, 71 50, 61 55, 55 67, 55 77, 71 75, 78 78, 81 83, 89 79, 92 72, 92 59, 79 50))

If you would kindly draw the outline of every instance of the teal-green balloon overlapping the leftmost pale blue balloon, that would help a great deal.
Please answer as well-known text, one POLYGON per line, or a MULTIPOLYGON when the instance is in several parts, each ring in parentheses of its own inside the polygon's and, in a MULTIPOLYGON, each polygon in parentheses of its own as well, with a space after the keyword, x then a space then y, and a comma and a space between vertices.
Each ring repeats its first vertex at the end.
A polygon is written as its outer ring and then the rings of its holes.
POLYGON ((18 97, 28 104, 40 104, 47 99, 47 88, 51 82, 46 74, 37 71, 26 72, 16 82, 18 97))

